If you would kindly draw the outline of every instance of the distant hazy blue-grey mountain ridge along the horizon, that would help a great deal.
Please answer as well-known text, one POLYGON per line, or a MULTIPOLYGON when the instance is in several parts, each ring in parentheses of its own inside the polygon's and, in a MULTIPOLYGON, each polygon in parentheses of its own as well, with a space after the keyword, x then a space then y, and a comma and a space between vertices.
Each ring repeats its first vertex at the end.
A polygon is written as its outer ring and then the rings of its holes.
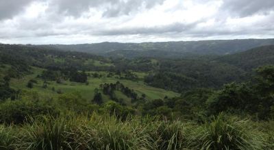
POLYGON ((271 39, 200 40, 179 42, 101 42, 79 45, 40 45, 62 51, 80 51, 112 57, 183 57, 186 55, 227 55, 255 47, 274 45, 271 39))

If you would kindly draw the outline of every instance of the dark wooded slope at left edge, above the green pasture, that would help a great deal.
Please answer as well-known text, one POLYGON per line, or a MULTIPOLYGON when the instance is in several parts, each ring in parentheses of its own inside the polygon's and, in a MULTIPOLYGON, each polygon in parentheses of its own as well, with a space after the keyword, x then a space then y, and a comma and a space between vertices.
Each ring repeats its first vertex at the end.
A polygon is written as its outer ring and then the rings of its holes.
POLYGON ((86 60, 110 63, 110 60, 97 55, 73 51, 58 51, 58 49, 41 45, 0 45, 1 64, 10 64, 12 66, 10 77, 21 77, 21 75, 29 73, 29 66, 47 68, 53 71, 61 71, 62 68, 70 67, 76 68, 78 71, 105 71, 112 68, 112 66, 86 64, 86 60), (64 61, 58 62, 56 60, 64 61))

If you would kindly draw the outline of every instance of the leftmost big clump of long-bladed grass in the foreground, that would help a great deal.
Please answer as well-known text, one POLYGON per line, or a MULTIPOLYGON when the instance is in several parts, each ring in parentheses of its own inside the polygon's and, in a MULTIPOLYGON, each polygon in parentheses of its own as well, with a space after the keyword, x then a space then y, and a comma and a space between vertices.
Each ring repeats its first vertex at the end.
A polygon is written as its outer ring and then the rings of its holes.
POLYGON ((69 147, 66 138, 69 133, 66 132, 67 122, 64 118, 52 118, 45 116, 42 119, 33 120, 31 124, 25 127, 26 149, 64 149, 69 147))

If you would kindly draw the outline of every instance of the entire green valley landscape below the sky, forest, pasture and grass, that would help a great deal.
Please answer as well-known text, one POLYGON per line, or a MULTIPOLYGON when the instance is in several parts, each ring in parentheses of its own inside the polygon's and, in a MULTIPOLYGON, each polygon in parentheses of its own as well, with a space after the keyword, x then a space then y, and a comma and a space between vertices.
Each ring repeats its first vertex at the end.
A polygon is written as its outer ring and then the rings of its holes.
POLYGON ((274 149, 273 40, 216 43, 0 44, 0 149, 274 149))

